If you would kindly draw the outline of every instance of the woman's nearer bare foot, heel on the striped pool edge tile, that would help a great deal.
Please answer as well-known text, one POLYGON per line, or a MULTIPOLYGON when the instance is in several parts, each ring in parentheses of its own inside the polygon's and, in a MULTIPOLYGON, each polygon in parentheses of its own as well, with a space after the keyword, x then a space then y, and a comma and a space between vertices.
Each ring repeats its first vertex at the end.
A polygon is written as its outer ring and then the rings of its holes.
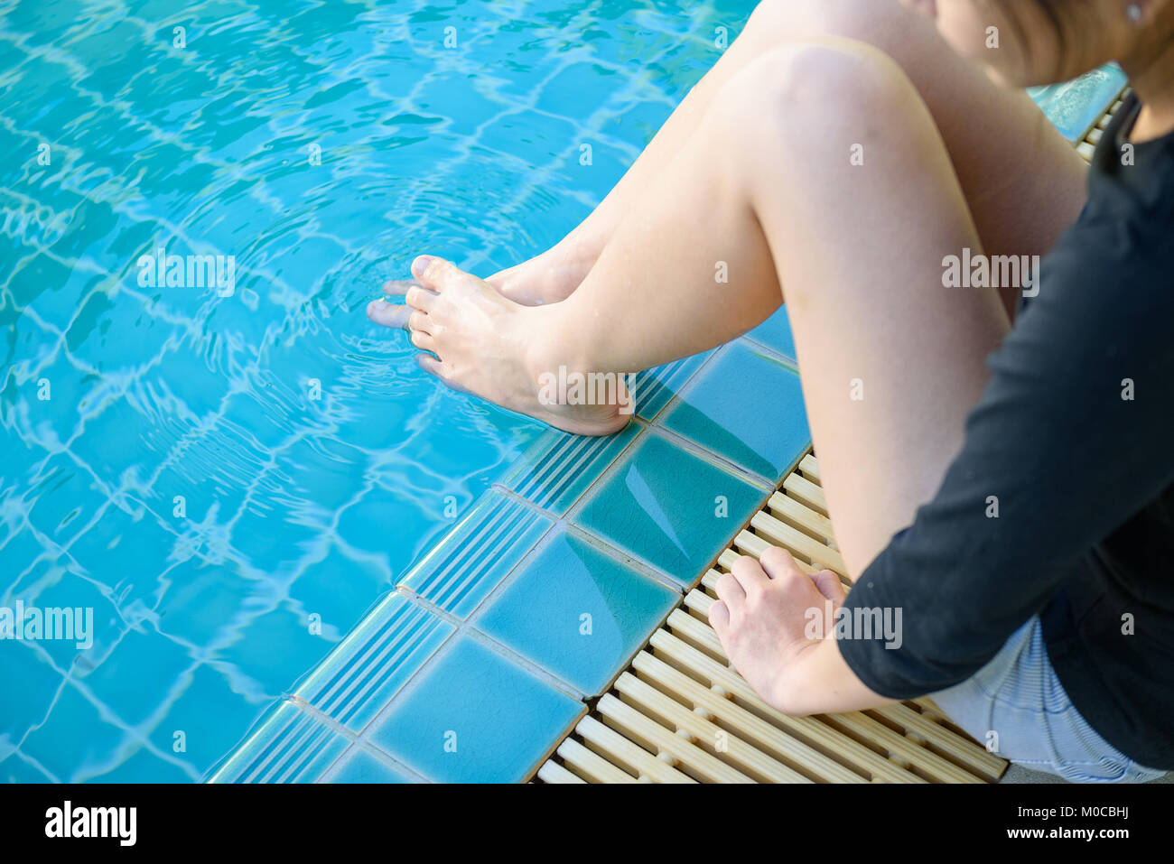
MULTIPOLYGON (((472 274, 443 258, 420 256, 412 263, 417 282, 390 282, 389 295, 404 295, 404 305, 375 301, 367 317, 377 324, 405 328, 425 372, 454 390, 473 393, 502 407, 581 436, 607 436, 630 419, 630 398, 622 377, 614 376, 610 404, 568 404, 552 398, 552 387, 567 363, 538 356, 534 333, 551 332, 551 306, 517 303, 472 274), (625 406, 628 406, 625 410, 625 406)), ((581 374, 581 373, 580 373, 581 374)), ((566 389, 561 391, 566 392, 566 389)), ((599 400, 592 400, 599 401, 599 400)))

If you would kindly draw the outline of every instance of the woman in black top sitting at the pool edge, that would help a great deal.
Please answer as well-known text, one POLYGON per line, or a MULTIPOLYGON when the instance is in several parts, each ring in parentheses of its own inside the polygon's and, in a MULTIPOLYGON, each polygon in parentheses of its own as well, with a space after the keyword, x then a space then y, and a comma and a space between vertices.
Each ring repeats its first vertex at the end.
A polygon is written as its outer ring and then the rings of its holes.
POLYGON ((933 694, 1017 762, 1155 777, 1174 769, 1174 0, 909 5, 762 4, 565 241, 487 282, 421 256, 385 288, 406 308, 369 315, 451 386, 608 434, 619 406, 545 404, 542 373, 647 369, 785 302, 855 587, 780 549, 740 559, 710 613, 737 669, 783 711, 933 694), (1021 88, 1111 59, 1140 99, 1086 177, 1021 88), (943 286, 984 254, 1048 257, 1031 291, 943 286), (899 609, 899 647, 811 635, 826 600, 899 609))

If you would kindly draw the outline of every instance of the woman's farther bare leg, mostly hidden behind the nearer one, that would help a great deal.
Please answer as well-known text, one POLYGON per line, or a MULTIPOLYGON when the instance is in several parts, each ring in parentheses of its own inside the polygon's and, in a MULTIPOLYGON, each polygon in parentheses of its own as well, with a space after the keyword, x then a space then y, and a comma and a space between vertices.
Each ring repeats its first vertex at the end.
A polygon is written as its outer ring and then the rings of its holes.
POLYGON ((568 296, 623 215, 694 135, 715 94, 764 52, 824 35, 873 45, 904 69, 942 133, 989 252, 1044 254, 1075 220, 1084 202, 1079 156, 1026 95, 991 85, 932 23, 893 0, 768 0, 605 201, 562 242, 490 277, 491 284, 526 304, 568 296))

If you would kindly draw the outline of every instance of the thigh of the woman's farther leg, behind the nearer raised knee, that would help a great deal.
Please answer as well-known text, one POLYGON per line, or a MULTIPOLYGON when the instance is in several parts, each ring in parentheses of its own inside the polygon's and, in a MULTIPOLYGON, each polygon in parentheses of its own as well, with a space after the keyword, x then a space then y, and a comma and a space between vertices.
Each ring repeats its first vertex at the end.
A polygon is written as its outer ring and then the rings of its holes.
MULTIPOLYGON (((1084 160, 1023 90, 992 83, 897 0, 767 0, 743 39, 761 50, 822 35, 872 45, 902 68, 942 134, 987 254, 1045 255, 1077 220, 1084 160)), ((1013 313, 1013 292, 1003 299, 1013 313)))

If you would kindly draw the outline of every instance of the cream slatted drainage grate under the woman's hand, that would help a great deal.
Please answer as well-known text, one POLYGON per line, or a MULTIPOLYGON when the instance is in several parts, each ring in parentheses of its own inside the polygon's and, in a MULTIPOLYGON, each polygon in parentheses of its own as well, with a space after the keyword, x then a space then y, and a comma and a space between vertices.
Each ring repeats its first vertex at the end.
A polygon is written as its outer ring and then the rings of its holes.
POLYGON ((1006 762, 927 698, 790 717, 729 667, 707 614, 740 555, 783 546, 801 567, 843 572, 807 455, 689 592, 612 689, 539 769, 545 783, 989 783, 1006 762), (816 566, 814 562, 818 562, 816 566))

